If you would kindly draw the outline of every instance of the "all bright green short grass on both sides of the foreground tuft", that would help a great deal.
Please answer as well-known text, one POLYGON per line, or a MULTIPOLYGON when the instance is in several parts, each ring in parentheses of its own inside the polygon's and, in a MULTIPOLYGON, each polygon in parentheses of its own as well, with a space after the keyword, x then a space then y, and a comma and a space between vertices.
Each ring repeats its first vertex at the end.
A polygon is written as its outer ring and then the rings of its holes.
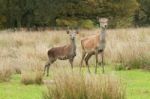
MULTIPOLYGON (((83 71, 86 72, 87 69, 83 71)), ((94 68, 91 68, 91 71, 94 73, 94 68)), ((98 71, 98 74, 101 74, 101 68, 98 68, 98 71)), ((150 72, 143 70, 114 71, 107 68, 106 73, 118 75, 123 80, 127 90, 127 99, 150 98, 150 72)), ((9 82, 0 83, 0 99, 42 99, 42 92, 46 90, 45 85, 26 86, 21 84, 20 79, 20 75, 13 75, 9 82)), ((50 77, 45 77, 45 79, 50 79, 50 77)))

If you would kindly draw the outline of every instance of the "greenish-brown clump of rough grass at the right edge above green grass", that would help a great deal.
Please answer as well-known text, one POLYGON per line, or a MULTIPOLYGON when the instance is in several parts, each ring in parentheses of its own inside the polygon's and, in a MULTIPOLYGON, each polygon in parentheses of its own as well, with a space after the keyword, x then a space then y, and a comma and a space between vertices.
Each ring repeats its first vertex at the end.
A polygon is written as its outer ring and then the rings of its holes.
POLYGON ((150 65, 150 56, 145 55, 144 50, 135 52, 124 52, 120 56, 120 64, 116 69, 143 69, 150 65), (127 54, 128 53, 128 54, 127 54), (126 54, 125 56, 123 54, 126 54))

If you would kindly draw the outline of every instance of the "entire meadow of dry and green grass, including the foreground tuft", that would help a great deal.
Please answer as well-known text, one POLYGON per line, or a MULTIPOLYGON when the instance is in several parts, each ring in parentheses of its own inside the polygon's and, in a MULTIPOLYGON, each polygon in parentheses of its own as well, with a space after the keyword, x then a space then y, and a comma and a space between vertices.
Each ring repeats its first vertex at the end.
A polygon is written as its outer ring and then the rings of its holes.
MULTIPOLYGON (((105 49, 106 72, 102 74, 101 67, 99 67, 98 74, 94 74, 95 58, 93 57, 89 62, 92 74, 88 74, 86 67, 82 69, 83 82, 86 83, 84 86, 82 85, 82 82, 80 82, 82 78, 78 74, 81 60, 80 40, 98 32, 98 29, 81 30, 77 35, 77 56, 74 61, 73 74, 70 72, 71 67, 68 61, 56 61, 50 67, 50 76, 43 77, 43 68, 48 60, 47 50, 54 46, 69 43, 66 31, 1 31, 0 99, 59 99, 60 97, 54 98, 55 95, 52 95, 57 90, 56 86, 53 87, 54 81, 58 81, 57 84, 62 86, 61 90, 68 89, 66 83, 61 84, 59 81, 70 82, 70 88, 73 89, 73 92, 86 88, 84 94, 91 93, 93 99, 110 99, 104 97, 108 94, 110 94, 110 97, 116 94, 116 97, 111 99, 118 99, 117 97, 122 97, 122 99, 150 98, 150 28, 108 30, 105 49), (67 74, 69 76, 66 76, 66 73, 63 75, 64 71, 69 73, 67 74), (63 76, 59 75, 60 72, 63 76), (88 75, 90 75, 89 79, 93 81, 92 84, 87 81, 88 75), (61 79, 63 77, 68 78, 61 79), (74 80, 73 78, 79 82, 71 82, 74 80), (106 78, 111 79, 107 80, 106 78), (103 83, 102 85, 98 84, 101 82, 99 79, 109 85, 104 87, 106 91, 96 89, 97 86, 103 85, 103 83), (115 81, 118 83, 115 83, 115 81), (82 87, 76 88, 77 84, 81 84, 82 87), (93 86, 90 87, 93 89, 89 93, 90 89, 88 90, 87 84, 93 86), (115 90, 115 93, 111 93, 110 88, 115 90), (51 89, 54 92, 51 92, 51 89), (104 98, 94 97, 96 96, 96 94, 93 94, 95 90, 97 93, 105 93, 105 95, 100 96, 104 98), (50 98, 50 96, 53 98, 50 98)), ((78 94, 69 95, 69 93, 62 93, 62 91, 58 93, 59 95, 67 94, 68 97, 78 96, 78 94)), ((77 97, 73 99, 77 99, 77 97)), ((83 97, 81 99, 91 98, 83 97)))

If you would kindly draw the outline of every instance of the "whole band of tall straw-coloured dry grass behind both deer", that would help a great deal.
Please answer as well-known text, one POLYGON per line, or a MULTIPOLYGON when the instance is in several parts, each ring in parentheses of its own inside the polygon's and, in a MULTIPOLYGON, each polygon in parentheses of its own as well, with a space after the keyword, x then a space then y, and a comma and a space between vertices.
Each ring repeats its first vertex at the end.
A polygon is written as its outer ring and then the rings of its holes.
MULTIPOLYGON (((99 30, 81 30, 77 35, 77 56, 74 66, 79 66, 81 59, 80 40, 99 30)), ((13 73, 35 71, 36 66, 44 67, 47 50, 54 46, 69 43, 66 31, 1 31, 0 61, 13 73)), ((150 67, 150 28, 108 30, 105 50, 105 63, 121 63, 126 67, 150 67)), ((90 64, 95 64, 94 58, 90 64)), ((57 61, 53 67, 69 66, 68 61, 57 61), (63 65, 62 65, 63 64, 63 65)))

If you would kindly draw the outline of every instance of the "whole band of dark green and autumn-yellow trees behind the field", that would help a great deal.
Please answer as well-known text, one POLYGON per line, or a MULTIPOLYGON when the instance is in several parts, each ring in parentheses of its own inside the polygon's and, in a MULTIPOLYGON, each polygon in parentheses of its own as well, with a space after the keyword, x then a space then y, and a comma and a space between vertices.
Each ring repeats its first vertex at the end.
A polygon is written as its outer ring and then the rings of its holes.
POLYGON ((109 27, 150 24, 149 0, 0 0, 0 28, 97 26, 107 17, 109 27))

